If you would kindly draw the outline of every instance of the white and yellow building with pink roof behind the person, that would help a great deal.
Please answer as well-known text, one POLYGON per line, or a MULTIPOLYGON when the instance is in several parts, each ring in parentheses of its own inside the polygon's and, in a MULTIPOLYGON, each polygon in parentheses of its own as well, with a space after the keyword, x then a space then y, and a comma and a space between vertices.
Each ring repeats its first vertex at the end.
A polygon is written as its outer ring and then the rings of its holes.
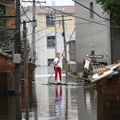
MULTIPOLYGON (((64 50, 63 42, 63 29, 62 29, 62 17, 61 12, 69 13, 74 15, 74 6, 50 6, 41 7, 36 6, 35 15, 37 20, 36 27, 36 64, 40 66, 50 65, 55 58, 55 22, 54 22, 54 12, 56 12, 56 29, 57 29, 57 51, 62 53, 64 50), (52 9, 53 8, 53 9, 52 9), (52 14, 51 14, 52 11, 52 14)), ((28 6, 21 10, 21 20, 29 21, 32 20, 32 7, 28 6)), ((65 21, 65 31, 66 31, 66 42, 69 40, 69 37, 72 31, 75 28, 74 17, 65 14, 64 19, 72 19, 65 21)), ((27 24, 27 38, 30 41, 32 40, 32 27, 33 23, 27 24)), ((21 27, 22 28, 22 27, 21 27)), ((21 29, 22 30, 22 29, 21 29)), ((75 34, 72 39, 75 39, 75 34)), ((69 48, 67 48, 67 56, 69 59, 69 48)))

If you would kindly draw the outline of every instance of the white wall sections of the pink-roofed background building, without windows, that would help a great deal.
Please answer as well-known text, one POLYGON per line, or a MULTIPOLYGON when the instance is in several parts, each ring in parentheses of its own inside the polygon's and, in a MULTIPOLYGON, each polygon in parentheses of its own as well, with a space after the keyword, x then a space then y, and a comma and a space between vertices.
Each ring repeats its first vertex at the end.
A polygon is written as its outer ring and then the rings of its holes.
MULTIPOLYGON (((31 10, 28 10, 26 11, 26 14, 27 16, 32 20, 32 11, 31 10)), ((22 14, 21 15, 21 20, 26 20, 26 21, 29 21, 26 17, 25 14, 22 14)), ((48 59, 54 59, 55 58, 55 48, 53 49, 48 49, 47 48, 47 36, 54 36, 55 33, 52 32, 52 33, 45 33, 45 31, 40 31, 40 32, 37 32, 40 30, 39 28, 39 14, 36 14, 36 20, 37 20, 37 27, 36 27, 36 34, 35 34, 35 39, 36 39, 36 65, 40 65, 40 66, 47 66, 48 65, 48 59), (49 35, 47 35, 49 34, 49 35), (47 36, 46 36, 47 35, 47 36)), ((46 22, 46 20, 44 20, 44 14, 43 14, 43 22, 46 22)), ((46 26, 44 26, 44 24, 42 24, 43 28, 46 28, 46 26)), ((32 42, 32 23, 27 23, 27 28, 28 28, 28 33, 27 33, 27 38, 30 42, 30 45, 31 45, 31 42, 32 42), (31 34, 31 35, 29 35, 31 34)), ((69 32, 69 25, 66 25, 66 42, 69 40, 70 38, 70 35, 72 34, 71 32, 69 32)), ((73 28, 74 29, 74 28, 73 28)), ((21 32, 23 30, 23 27, 21 26, 21 32)), ((75 39, 75 34, 73 35, 72 39, 73 40, 75 39)), ((64 50, 64 42, 63 42, 63 37, 62 37, 62 32, 58 32, 57 33, 57 48, 58 48, 58 52, 62 53, 63 50, 64 50)), ((69 60, 69 47, 67 47, 67 57, 68 57, 68 60, 69 60)))

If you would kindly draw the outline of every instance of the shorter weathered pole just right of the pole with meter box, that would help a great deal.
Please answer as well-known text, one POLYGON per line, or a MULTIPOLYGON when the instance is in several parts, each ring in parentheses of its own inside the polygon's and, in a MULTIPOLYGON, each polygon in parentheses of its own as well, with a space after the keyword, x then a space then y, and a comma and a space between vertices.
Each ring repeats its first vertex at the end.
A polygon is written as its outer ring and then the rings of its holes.
POLYGON ((24 42, 24 78, 28 80, 26 21, 23 21, 23 42, 24 42))

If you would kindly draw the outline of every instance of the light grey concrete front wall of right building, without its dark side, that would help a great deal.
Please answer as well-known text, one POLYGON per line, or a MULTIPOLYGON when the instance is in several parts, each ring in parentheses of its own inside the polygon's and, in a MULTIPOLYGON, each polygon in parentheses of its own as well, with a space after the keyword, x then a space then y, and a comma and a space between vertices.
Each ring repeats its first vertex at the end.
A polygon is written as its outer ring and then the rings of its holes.
MULTIPOLYGON (((78 0, 81 4, 90 8, 90 2, 93 2, 93 9, 99 15, 109 18, 108 15, 102 14, 103 10, 101 6, 95 4, 95 0, 78 0)), ((90 11, 75 4, 75 15, 83 17, 85 19, 95 21, 106 26, 90 23, 81 19, 75 19, 76 33, 76 62, 77 71, 82 70, 82 62, 87 54, 91 54, 91 51, 95 52, 95 55, 107 54, 107 61, 111 63, 111 51, 110 51, 110 23, 104 19, 99 18, 94 14, 94 17, 90 18, 90 11)))

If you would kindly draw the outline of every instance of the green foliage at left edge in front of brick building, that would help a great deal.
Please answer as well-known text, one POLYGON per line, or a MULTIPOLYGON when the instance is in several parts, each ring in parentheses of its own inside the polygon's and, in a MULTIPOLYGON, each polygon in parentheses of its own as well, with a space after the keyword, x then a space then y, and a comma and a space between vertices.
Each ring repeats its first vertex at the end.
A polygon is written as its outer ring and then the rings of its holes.
MULTIPOLYGON (((4 18, 1 15, 2 15, 2 13, 0 13, 0 47, 4 47, 6 45, 12 44, 11 41, 6 41, 12 35, 11 31, 7 30, 9 27, 6 25, 6 23, 11 18, 4 18)), ((3 16, 11 16, 11 12, 9 12, 3 16)))

